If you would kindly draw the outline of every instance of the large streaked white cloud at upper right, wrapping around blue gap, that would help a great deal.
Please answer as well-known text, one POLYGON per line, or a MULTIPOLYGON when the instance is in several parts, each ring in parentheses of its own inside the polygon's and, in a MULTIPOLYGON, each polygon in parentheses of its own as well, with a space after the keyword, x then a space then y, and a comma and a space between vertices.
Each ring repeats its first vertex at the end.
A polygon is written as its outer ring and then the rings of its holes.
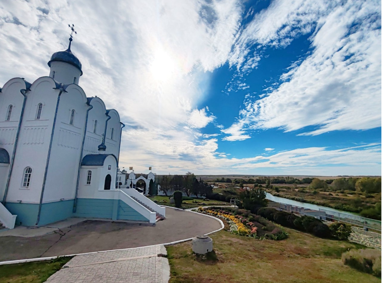
POLYGON ((284 82, 265 97, 245 100, 242 127, 316 126, 303 135, 317 135, 381 126, 380 2, 337 4, 276 1, 242 31, 232 64, 240 63, 248 44, 283 46, 315 29, 311 55, 293 63, 281 76, 284 82))

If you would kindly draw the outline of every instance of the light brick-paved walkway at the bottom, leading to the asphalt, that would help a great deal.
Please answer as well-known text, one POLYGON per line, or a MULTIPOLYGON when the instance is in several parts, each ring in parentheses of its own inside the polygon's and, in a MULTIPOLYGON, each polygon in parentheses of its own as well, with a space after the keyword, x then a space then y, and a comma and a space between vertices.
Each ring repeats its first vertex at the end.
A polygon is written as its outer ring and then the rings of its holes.
POLYGON ((162 266, 168 266, 168 260, 157 256, 161 253, 165 254, 164 246, 76 256, 47 282, 167 283, 168 276, 163 277, 162 266))

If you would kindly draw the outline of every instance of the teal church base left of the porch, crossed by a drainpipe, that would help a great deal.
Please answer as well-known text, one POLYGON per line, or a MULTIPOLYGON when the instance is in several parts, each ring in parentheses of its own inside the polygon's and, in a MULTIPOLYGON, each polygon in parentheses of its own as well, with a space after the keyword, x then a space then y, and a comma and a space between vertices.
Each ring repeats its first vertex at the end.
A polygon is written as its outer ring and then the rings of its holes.
MULTIPOLYGON (((38 226, 44 226, 49 223, 64 220, 72 217, 74 200, 49 202, 41 205, 40 221, 38 226)), ((16 225, 35 226, 37 222, 37 214, 39 211, 38 204, 26 204, 18 202, 6 202, 8 209, 16 217, 16 225)))

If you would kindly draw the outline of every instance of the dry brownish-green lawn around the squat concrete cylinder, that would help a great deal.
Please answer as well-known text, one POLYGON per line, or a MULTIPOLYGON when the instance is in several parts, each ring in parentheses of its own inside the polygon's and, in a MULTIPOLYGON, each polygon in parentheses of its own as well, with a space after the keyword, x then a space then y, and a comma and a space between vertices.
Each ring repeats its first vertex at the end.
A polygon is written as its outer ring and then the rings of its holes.
MULTIPOLYGON (((227 223, 226 228, 229 229, 227 223)), ((320 239, 285 228, 282 241, 230 234, 210 234, 214 252, 202 260, 192 253, 192 242, 167 246, 170 283, 380 282, 381 279, 344 265, 341 254, 363 247, 346 241, 320 239), (217 260, 214 260, 217 257, 217 260)))

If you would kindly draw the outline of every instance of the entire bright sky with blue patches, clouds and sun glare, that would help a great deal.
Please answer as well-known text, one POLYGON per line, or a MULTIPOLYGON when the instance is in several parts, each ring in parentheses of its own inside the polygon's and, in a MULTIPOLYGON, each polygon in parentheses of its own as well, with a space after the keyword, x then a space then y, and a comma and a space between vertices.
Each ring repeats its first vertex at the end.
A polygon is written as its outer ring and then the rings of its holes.
POLYGON ((74 23, 81 87, 126 124, 121 167, 381 174, 380 1, 109 4, 2 1, 0 86, 47 75, 74 23))

